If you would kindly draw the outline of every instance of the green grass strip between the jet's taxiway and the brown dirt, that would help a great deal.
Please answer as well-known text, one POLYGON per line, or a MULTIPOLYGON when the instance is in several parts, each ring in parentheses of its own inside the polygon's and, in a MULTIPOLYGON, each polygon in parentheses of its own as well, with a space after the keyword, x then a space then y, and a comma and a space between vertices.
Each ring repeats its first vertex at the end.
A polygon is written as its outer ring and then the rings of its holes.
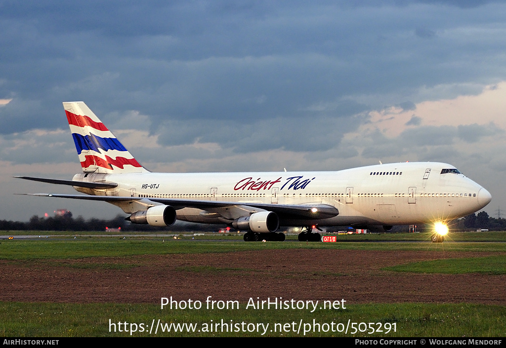
POLYGON ((128 256, 145 254, 209 253, 265 249, 355 249, 355 250, 444 250, 506 252, 504 243, 307 243, 243 242, 221 243, 162 239, 70 239, 70 240, 4 240, 0 242, 0 259, 81 258, 94 256, 128 256))

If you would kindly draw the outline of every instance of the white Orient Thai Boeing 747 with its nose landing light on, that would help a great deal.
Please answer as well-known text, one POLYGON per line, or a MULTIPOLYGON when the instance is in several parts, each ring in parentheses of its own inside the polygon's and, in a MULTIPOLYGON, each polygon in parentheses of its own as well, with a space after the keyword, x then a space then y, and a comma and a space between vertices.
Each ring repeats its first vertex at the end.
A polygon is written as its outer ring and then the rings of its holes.
MULTIPOLYGON (((445 222, 473 213, 490 193, 454 166, 437 162, 371 165, 340 171, 153 173, 145 169, 83 102, 63 103, 82 173, 72 180, 17 177, 70 185, 87 195, 34 194, 105 201, 134 224, 176 220, 227 224, 245 241, 279 240, 279 227, 303 227, 301 241, 319 241, 312 226, 367 228, 445 222)), ((442 241, 438 237, 435 241, 442 241)))

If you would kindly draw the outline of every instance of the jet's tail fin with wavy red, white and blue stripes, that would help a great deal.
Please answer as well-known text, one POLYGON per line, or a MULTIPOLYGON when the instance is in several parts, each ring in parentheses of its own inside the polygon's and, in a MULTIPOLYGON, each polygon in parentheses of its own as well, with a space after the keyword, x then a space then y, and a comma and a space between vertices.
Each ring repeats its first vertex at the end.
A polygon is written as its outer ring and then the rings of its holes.
POLYGON ((83 172, 148 172, 84 102, 64 102, 83 172))

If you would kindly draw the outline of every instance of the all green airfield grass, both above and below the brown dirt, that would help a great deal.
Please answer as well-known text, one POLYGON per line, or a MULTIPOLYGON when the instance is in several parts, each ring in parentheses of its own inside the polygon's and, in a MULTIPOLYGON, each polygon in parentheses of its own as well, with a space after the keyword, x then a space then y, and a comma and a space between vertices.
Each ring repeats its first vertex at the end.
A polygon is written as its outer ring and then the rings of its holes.
MULTIPOLYGON (((396 234, 396 235, 363 235, 338 236, 342 243, 306 243, 306 242, 266 242, 245 243, 241 236, 225 236, 232 239, 224 242, 199 241, 186 239, 151 238, 98 238, 81 237, 57 239, 28 239, 2 240, 0 242, 0 260, 7 263, 24 262, 24 260, 45 259, 45 262, 58 265, 65 259, 79 259, 87 257, 118 257, 132 255, 162 255, 181 253, 227 253, 241 250, 265 249, 355 249, 355 250, 438 250, 438 251, 472 251, 486 252, 483 257, 445 258, 432 261, 407 263, 384 268, 390 272, 408 273, 443 273, 443 274, 506 274, 506 245, 505 232, 454 233, 447 240, 464 241, 460 243, 430 243, 429 234, 396 234), (351 237, 351 238, 350 238, 351 237), (235 239, 235 240, 234 240, 235 239), (354 241, 351 241, 354 240, 354 241), (381 240, 371 243, 368 240, 381 240), (399 242, 395 242, 399 241, 399 242), (403 242, 404 241, 404 242, 403 242), (412 243, 409 241, 427 241, 426 243, 412 243), (497 243, 495 243, 497 242, 497 243)), ((203 236, 209 239, 207 236, 203 236)), ((214 236, 214 238, 224 238, 214 236)), ((72 264, 65 267, 86 267, 98 269, 126 270, 136 267, 135 264, 102 263, 102 264, 72 264)), ((185 266, 192 274, 213 272, 200 266, 195 270, 191 265, 185 266)), ((205 303, 204 303, 205 307, 205 303)), ((506 307, 476 305, 469 303, 369 303, 349 305, 346 310, 253 310, 246 309, 246 303, 240 303, 238 310, 161 310, 153 304, 139 303, 27 303, 0 302, 0 336, 130 336, 130 324, 137 325, 137 332, 133 336, 261 336, 260 332, 248 332, 247 324, 263 323, 269 326, 265 336, 362 336, 362 337, 415 337, 415 336, 452 336, 452 337, 497 337, 506 335, 506 307), (209 324, 246 323, 246 332, 204 332, 209 330, 209 324), (109 322, 111 320, 111 322, 109 322), (148 332, 151 325, 160 320, 170 325, 194 323, 195 332, 161 332, 156 335, 154 329, 148 332), (213 321, 213 322, 212 322, 213 321), (119 332, 119 325, 110 323, 129 323, 129 332, 119 332), (339 332, 348 325, 357 323, 357 332, 353 333, 349 326, 347 333, 339 332), (140 324, 143 324, 143 332, 140 324), (295 323, 295 324, 293 324, 295 323), (332 324, 333 323, 333 324, 332 324), (337 326, 338 324, 344 326, 337 326), (360 324, 365 323, 365 324, 360 324), (369 325, 369 323, 373 323, 369 325), (394 327, 391 324, 395 323, 394 327), (275 326, 275 324, 279 324, 275 326), (319 325, 316 325, 319 324, 319 325), (325 325, 326 326, 325 326, 325 325), (386 333, 385 324, 390 331, 386 333), (207 325, 207 327, 205 327, 207 325), (334 325, 334 326, 332 326, 334 325), (295 328, 299 328, 297 332, 295 328), (335 330, 332 332, 333 327, 335 330), (367 329, 366 329, 367 328, 367 329), (383 332, 368 333, 372 329, 380 328, 383 332), (273 331, 270 331, 270 330, 273 331), (200 332, 198 331, 200 330, 200 332), (281 330, 281 332, 280 332, 281 330), (294 332, 294 330, 296 332, 294 332), (326 330, 326 332, 324 332, 326 330)), ((244 327, 244 326, 243 326, 244 327)), ((242 328, 243 328, 242 327, 242 328)), ((167 329, 165 327, 165 329, 167 329)), ((236 328, 241 328, 234 326, 236 328)), ((124 331, 124 327, 123 327, 124 331)), ((190 329, 190 331, 192 331, 190 329)))

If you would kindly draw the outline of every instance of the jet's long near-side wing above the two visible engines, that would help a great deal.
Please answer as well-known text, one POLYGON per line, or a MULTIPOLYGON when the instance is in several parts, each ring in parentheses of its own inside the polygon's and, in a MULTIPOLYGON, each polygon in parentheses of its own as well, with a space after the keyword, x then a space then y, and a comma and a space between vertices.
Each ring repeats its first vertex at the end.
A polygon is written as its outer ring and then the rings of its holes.
POLYGON ((170 198, 141 198, 141 197, 119 197, 119 196, 87 196, 87 195, 65 195, 65 194, 51 194, 51 193, 36 193, 25 194, 28 196, 41 196, 41 197, 58 197, 58 198, 71 198, 83 199, 92 201, 104 202, 126 202, 126 201, 152 201, 165 205, 171 205, 176 210, 182 208, 198 208, 202 210, 216 211, 220 208, 227 208, 231 206, 245 206, 261 210, 272 211, 278 214, 282 219, 329 219, 337 216, 339 210, 327 204, 268 204, 256 202, 223 202, 223 201, 200 201, 200 200, 187 200, 187 199, 170 199, 170 198))

